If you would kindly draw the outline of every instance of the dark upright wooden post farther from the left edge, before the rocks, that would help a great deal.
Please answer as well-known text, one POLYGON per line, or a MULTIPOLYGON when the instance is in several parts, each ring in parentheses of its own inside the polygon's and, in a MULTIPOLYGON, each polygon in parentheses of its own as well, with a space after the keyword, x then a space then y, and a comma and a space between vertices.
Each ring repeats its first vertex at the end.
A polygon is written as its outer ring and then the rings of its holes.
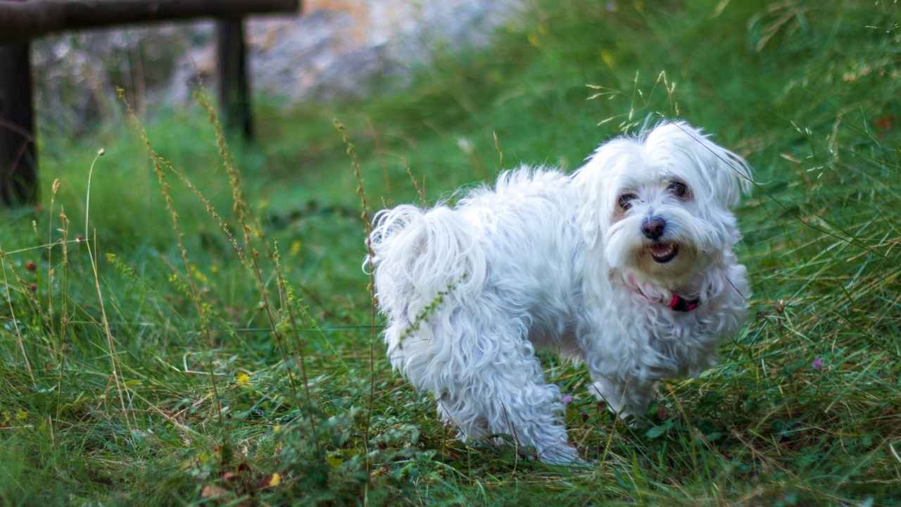
POLYGON ((216 57, 219 72, 219 105, 225 129, 240 132, 245 141, 253 139, 250 116, 250 85, 247 48, 241 20, 216 22, 216 57))

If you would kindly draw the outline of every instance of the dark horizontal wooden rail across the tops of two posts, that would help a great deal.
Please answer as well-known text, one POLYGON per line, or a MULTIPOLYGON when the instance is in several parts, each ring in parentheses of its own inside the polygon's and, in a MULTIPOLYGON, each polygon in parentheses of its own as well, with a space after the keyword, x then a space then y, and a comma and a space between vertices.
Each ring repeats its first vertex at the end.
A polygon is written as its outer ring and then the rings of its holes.
POLYGON ((51 32, 200 17, 288 14, 300 0, 0 0, 0 44, 51 32))

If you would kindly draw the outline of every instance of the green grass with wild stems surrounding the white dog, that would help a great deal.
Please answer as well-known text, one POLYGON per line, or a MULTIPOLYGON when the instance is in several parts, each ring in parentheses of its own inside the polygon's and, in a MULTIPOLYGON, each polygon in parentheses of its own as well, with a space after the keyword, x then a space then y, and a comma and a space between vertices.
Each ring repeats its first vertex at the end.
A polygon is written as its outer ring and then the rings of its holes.
POLYGON ((538 1, 405 91, 260 102, 257 146, 224 151, 202 105, 43 135, 41 207, 0 226, 0 504, 901 503, 899 20, 885 1, 538 1), (660 116, 755 168, 747 327, 640 429, 542 355, 591 467, 456 441, 383 357, 360 196, 572 169, 660 116))

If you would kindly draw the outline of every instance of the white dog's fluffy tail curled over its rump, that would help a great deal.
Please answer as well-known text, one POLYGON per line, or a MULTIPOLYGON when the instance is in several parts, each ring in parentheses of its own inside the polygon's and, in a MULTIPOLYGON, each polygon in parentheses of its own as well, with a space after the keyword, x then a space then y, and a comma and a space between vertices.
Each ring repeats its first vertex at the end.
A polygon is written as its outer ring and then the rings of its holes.
POLYGON ((481 289, 485 254, 472 224, 447 206, 401 205, 379 211, 369 235, 363 271, 374 270, 381 309, 412 321, 424 308, 460 300, 481 289), (417 305, 418 306, 418 305, 417 305))

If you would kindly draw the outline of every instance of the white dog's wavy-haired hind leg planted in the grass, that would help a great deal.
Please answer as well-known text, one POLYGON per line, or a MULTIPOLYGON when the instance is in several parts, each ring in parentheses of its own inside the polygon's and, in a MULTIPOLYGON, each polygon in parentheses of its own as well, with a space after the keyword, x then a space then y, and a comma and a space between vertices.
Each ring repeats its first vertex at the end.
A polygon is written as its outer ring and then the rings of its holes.
POLYGON ((501 299, 445 301, 418 325, 396 318, 385 338, 391 364, 463 440, 511 435, 542 461, 581 461, 569 445, 560 389, 544 380, 524 317, 492 308, 501 299))

